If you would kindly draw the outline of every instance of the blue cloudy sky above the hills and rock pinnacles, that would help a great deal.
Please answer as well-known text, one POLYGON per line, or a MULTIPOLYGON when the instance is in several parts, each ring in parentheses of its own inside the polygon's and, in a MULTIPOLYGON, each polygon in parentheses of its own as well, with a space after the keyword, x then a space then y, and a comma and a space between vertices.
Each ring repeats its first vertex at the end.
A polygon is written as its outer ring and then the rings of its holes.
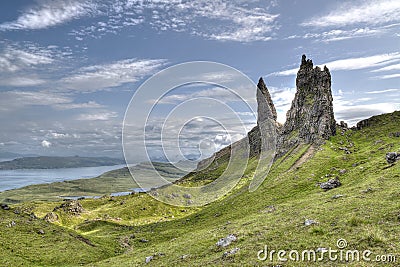
MULTIPOLYGON (((134 94, 152 75, 190 61, 230 66, 254 83, 263 77, 284 122, 306 54, 331 71, 336 120, 354 125, 400 109, 399 47, 398 0, 3 0, 0 151, 122 157, 124 115, 134 94)), ((236 72, 224 71, 205 70, 219 85, 235 81, 236 72)), ((140 124, 135 133, 144 127, 153 134, 153 159, 165 158, 156 136, 181 103, 189 108, 165 126, 179 135, 178 143, 166 141, 170 160, 207 156, 255 125, 256 89, 241 88, 236 101, 219 85, 175 88, 156 101, 145 125, 144 107, 129 106, 130 122, 140 124), (214 116, 202 114, 210 106, 214 116)), ((156 89, 145 89, 141 101, 154 104, 156 89)), ((142 160, 138 154, 134 161, 142 160)))

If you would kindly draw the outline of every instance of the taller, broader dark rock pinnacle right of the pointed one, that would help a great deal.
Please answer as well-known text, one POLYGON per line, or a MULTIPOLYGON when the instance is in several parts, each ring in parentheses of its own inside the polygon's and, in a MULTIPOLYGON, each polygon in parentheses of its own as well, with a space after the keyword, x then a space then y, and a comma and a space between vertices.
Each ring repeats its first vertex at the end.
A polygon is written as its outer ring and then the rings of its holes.
POLYGON ((336 133, 328 68, 314 68, 312 61, 303 55, 296 87, 295 98, 278 140, 278 157, 300 143, 321 144, 336 133))

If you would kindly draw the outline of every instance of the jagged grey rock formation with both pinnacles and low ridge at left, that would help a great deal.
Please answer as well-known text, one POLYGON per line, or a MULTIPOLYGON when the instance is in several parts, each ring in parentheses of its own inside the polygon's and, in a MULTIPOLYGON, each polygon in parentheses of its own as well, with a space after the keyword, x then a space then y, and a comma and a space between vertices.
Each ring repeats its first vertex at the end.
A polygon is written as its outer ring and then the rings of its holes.
POLYGON ((216 152, 213 157, 200 161, 197 169, 204 169, 213 161, 215 163, 217 159, 229 156, 232 147, 242 146, 244 142, 249 142, 250 157, 259 155, 262 150, 271 151, 276 146, 275 158, 278 158, 299 144, 319 145, 335 135, 336 121, 328 68, 314 68, 312 61, 303 55, 296 87, 295 98, 282 126, 276 121, 277 112, 271 95, 264 80, 260 78, 257 84, 257 126, 246 138, 216 152))

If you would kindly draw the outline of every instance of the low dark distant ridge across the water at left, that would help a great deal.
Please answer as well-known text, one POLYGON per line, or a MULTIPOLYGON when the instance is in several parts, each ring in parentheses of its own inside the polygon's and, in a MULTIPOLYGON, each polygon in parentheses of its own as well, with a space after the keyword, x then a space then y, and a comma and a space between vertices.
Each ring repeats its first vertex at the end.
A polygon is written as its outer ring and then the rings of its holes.
POLYGON ((79 167, 98 167, 124 164, 122 159, 108 157, 23 157, 0 162, 0 170, 16 169, 60 169, 79 167))

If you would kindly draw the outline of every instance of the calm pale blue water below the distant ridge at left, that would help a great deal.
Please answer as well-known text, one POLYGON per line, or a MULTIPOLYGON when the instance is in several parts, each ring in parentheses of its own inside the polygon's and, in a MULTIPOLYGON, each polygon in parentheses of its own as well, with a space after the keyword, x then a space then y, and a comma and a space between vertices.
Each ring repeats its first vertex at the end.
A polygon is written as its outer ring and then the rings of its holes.
POLYGON ((105 172, 123 167, 125 165, 45 170, 0 170, 0 192, 32 184, 93 178, 105 172))

